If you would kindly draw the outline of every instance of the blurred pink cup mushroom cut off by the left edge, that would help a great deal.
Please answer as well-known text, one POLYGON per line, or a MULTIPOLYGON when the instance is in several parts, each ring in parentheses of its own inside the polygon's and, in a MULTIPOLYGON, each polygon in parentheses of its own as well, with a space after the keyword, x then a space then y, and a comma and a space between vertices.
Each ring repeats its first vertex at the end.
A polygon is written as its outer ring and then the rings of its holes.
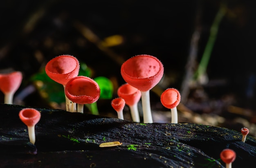
POLYGON ((19 71, 0 74, 0 90, 4 93, 4 103, 13 104, 13 95, 20 87, 22 73, 19 71))

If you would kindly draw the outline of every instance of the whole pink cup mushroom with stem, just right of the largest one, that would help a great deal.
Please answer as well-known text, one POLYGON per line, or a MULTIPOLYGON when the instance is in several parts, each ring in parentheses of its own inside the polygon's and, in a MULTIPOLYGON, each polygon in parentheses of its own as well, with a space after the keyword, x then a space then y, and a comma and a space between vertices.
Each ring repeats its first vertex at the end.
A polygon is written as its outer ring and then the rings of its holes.
POLYGON ((171 109, 171 123, 178 123, 177 105, 180 103, 180 92, 174 88, 166 89, 160 100, 164 107, 171 109))

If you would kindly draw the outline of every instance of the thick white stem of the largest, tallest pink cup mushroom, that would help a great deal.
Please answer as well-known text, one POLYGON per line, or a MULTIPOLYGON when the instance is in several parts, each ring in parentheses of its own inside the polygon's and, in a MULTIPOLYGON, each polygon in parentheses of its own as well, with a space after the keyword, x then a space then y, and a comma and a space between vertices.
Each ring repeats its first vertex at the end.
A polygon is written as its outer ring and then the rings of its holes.
POLYGON ((144 123, 153 123, 151 108, 150 108, 149 90, 145 92, 141 91, 141 102, 142 102, 144 123))

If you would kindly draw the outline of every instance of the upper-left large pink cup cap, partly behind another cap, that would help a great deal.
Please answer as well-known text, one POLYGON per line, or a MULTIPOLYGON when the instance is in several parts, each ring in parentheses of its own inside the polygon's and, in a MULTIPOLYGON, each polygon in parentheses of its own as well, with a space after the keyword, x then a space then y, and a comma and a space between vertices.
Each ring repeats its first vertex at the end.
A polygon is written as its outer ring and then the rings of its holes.
POLYGON ((79 68, 79 61, 74 56, 61 55, 49 60, 45 72, 52 80, 66 85, 71 78, 78 75, 79 68))

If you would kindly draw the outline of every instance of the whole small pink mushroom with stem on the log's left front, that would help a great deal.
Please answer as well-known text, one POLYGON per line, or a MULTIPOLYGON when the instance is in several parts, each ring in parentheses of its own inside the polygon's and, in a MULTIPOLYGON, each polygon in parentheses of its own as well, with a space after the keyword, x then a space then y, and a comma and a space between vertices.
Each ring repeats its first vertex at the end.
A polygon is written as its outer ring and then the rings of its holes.
POLYGON ((30 142, 35 144, 35 125, 40 120, 41 113, 34 108, 24 108, 20 110, 19 117, 20 120, 27 125, 30 142))

